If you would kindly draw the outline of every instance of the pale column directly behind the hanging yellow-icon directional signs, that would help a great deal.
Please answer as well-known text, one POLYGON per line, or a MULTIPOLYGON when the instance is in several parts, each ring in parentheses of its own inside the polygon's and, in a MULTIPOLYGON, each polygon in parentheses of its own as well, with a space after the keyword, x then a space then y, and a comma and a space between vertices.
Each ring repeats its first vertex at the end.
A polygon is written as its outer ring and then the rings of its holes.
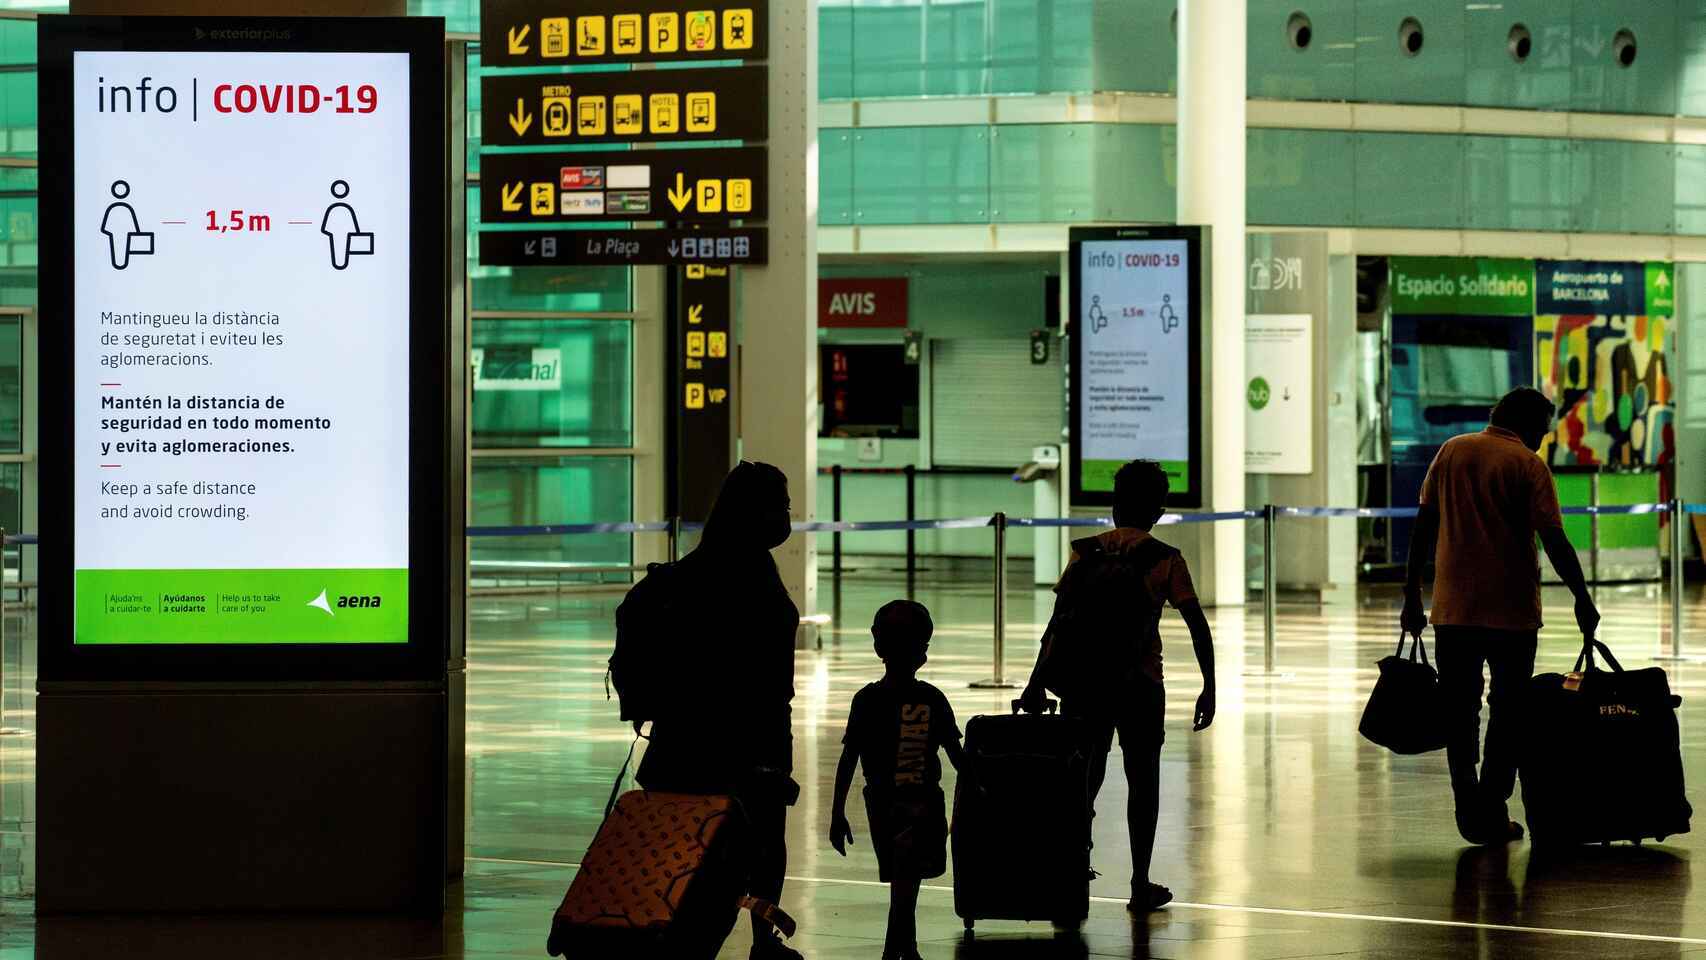
MULTIPOLYGON (((740 271, 740 455, 788 474, 793 518, 817 515, 817 0, 769 5, 769 266, 740 271)), ((815 537, 780 551, 817 612, 815 537)), ((809 638, 807 638, 809 639, 809 638)))

